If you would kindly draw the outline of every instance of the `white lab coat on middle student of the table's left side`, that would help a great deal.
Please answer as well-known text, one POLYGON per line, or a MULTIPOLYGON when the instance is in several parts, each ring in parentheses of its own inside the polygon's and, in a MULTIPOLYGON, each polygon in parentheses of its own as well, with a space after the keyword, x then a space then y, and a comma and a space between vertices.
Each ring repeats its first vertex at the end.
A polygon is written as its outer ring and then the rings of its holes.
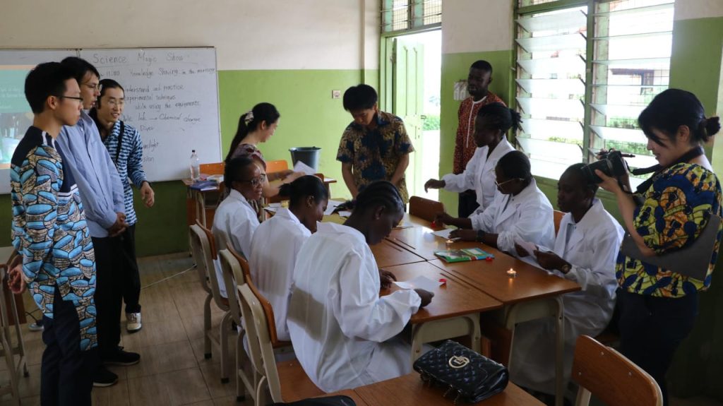
POLYGON ((286 314, 291 299, 294 264, 301 244, 312 235, 288 209, 280 208, 254 232, 251 242, 251 278, 271 303, 279 340, 288 341, 286 314))

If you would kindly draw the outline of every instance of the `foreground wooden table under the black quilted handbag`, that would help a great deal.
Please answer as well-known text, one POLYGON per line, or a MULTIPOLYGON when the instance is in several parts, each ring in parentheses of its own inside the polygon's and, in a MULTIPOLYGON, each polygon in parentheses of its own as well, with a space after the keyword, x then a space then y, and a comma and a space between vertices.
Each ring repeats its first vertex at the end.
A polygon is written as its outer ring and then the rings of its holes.
MULTIPOLYGON (((454 399, 445 398, 445 388, 427 386, 419 373, 409 373, 388 381, 377 382, 354 389, 367 403, 375 406, 437 406, 455 405, 454 399)), ((463 405, 464 402, 459 402, 463 405)), ((477 403, 480 406, 544 406, 544 403, 510 382, 504 392, 477 403)))

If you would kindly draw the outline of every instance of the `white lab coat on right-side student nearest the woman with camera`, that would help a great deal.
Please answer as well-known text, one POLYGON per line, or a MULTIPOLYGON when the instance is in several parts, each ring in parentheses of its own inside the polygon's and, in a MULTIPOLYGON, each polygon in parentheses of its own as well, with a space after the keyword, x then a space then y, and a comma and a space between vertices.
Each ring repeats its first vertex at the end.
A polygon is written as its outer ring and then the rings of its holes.
MULTIPOLYGON (((570 213, 562 217, 555 239, 555 254, 572 265, 567 275, 552 273, 573 280, 582 290, 562 296, 565 306, 565 385, 570 380, 575 342, 579 335, 595 337, 612 317, 615 307, 615 260, 623 228, 599 199, 575 225, 568 241, 568 225, 574 224, 570 213)), ((518 324, 515 329, 510 378, 515 384, 540 392, 555 392, 555 323, 539 319, 518 324)))

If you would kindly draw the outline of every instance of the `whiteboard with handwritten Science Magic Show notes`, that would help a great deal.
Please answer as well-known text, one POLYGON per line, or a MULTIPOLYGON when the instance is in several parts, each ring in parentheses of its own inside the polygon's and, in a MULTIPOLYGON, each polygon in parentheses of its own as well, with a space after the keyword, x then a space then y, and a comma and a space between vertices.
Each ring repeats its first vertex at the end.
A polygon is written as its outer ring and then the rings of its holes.
POLYGON ((140 131, 149 181, 189 177, 191 150, 221 162, 215 48, 82 49, 125 90, 122 120, 140 131))

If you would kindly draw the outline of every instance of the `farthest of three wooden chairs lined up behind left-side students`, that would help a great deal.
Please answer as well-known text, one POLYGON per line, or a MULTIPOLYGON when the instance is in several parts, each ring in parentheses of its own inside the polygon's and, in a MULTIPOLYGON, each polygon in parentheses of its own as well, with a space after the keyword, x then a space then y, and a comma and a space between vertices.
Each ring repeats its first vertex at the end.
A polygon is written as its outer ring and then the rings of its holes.
POLYGON ((198 221, 190 226, 190 234, 191 250, 194 262, 196 262, 199 281, 207 293, 203 303, 203 355, 206 359, 211 358, 211 342, 221 347, 221 382, 225 384, 228 382, 228 331, 231 329, 231 313, 228 300, 221 296, 218 286, 215 270, 215 242, 211 231, 200 225, 198 221), (211 332, 211 301, 224 312, 218 339, 211 332))

